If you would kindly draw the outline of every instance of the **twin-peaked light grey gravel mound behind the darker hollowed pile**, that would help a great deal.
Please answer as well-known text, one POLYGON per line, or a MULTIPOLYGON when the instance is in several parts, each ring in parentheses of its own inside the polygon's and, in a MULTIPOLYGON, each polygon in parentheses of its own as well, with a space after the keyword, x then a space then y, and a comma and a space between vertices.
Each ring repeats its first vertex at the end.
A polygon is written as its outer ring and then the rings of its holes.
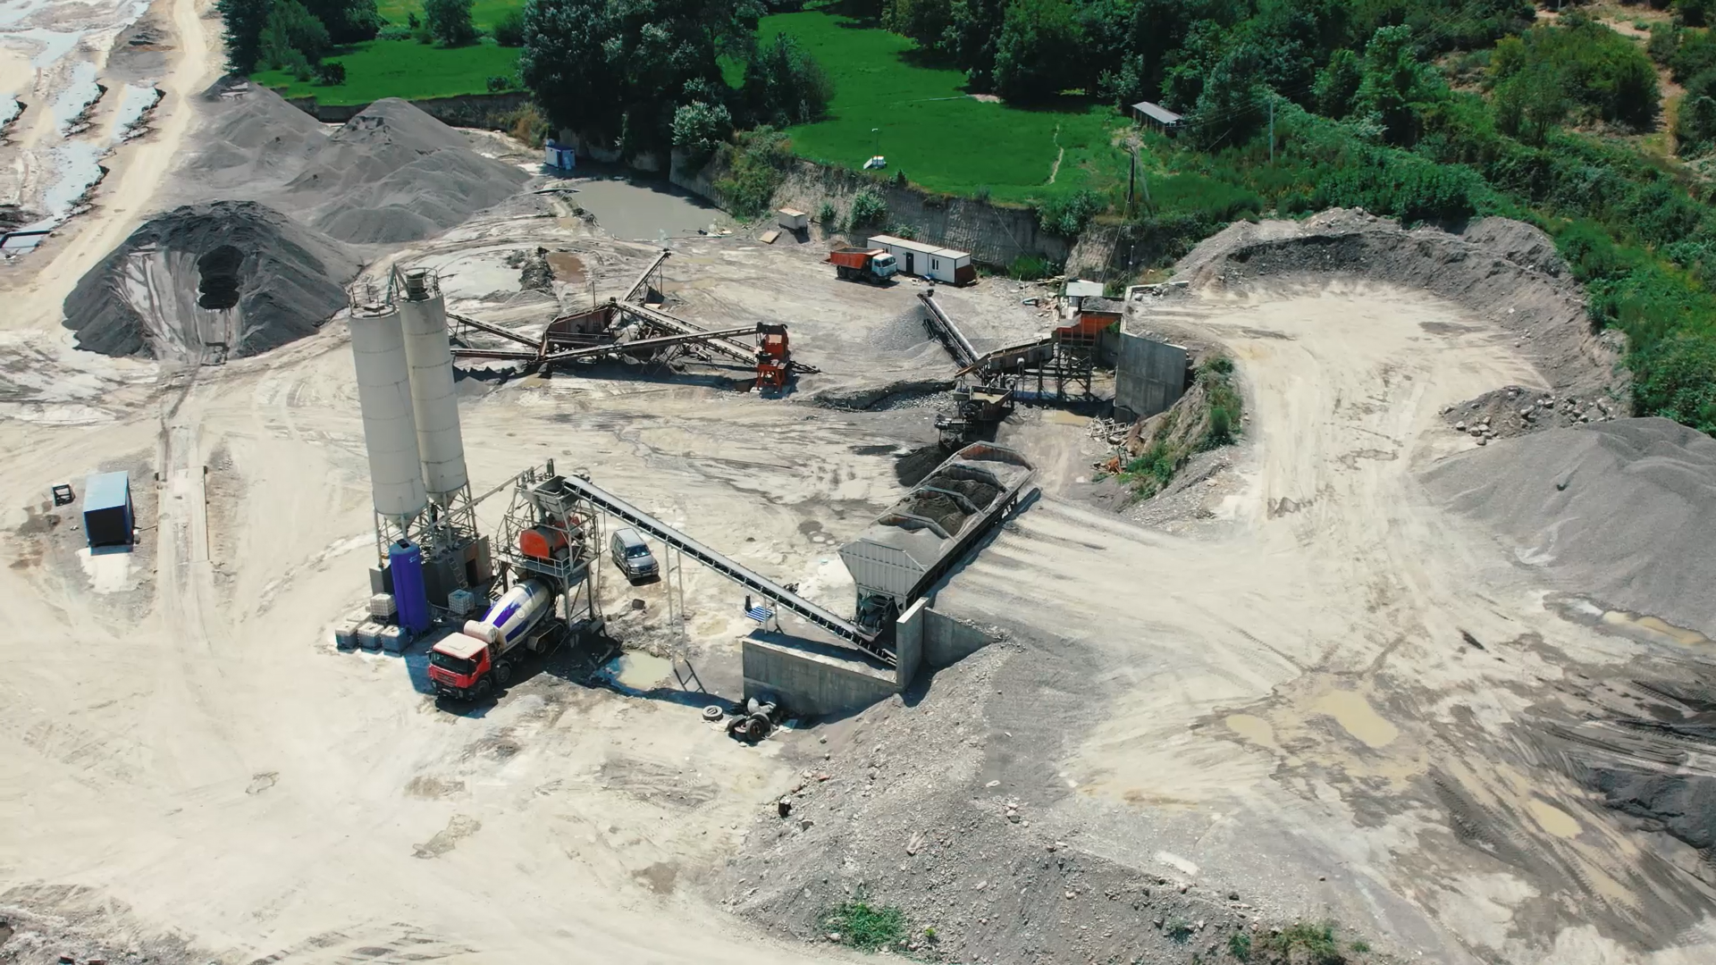
POLYGON ((420 240, 511 197, 523 170, 484 158, 465 136, 407 101, 369 105, 328 130, 280 94, 223 79, 185 165, 201 185, 290 211, 353 244, 420 240))

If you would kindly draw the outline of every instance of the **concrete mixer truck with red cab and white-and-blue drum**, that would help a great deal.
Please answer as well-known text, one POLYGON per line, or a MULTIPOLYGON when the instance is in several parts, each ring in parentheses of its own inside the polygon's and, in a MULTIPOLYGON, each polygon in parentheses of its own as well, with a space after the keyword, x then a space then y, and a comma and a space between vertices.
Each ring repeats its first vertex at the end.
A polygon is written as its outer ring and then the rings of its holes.
POLYGON ((520 580, 482 616, 429 651, 429 680, 436 694, 480 701, 506 687, 518 659, 553 649, 566 632, 553 618, 554 591, 546 580, 520 580))

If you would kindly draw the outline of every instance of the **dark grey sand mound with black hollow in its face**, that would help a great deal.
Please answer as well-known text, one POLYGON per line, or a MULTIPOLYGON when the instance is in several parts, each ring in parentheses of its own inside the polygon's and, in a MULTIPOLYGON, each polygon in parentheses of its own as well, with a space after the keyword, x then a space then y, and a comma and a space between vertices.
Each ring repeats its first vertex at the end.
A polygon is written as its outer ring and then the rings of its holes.
POLYGON ((360 261, 254 201, 156 215, 65 299, 77 347, 218 362, 302 338, 345 306, 360 261))

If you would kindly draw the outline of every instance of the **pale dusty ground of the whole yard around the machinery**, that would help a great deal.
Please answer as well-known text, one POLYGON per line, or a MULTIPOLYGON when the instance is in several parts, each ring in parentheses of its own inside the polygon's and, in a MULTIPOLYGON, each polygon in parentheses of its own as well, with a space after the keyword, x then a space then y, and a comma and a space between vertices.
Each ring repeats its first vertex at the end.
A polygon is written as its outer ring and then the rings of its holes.
MULTIPOLYGON (((903 701, 733 743, 697 711, 738 692, 741 592, 686 568, 601 579, 633 651, 616 687, 580 651, 453 707, 426 694, 422 649, 329 639, 372 561, 338 319, 201 367, 76 354, 58 328, 70 283, 185 189, 146 148, 175 153, 218 57, 189 0, 170 12, 154 134, 117 155, 110 203, 7 275, 0 955, 851 960, 819 915, 860 891, 908 912, 918 955, 959 962, 1217 960, 1296 917, 1405 960, 1716 955, 1707 644, 1568 604, 1423 482, 1477 450, 1447 407, 1508 385, 1591 398, 1604 378, 1615 347, 1577 330, 1577 292, 1529 237, 1414 235, 1423 263, 1380 283, 1354 266, 1385 225, 1337 215, 1326 263, 1268 244, 1289 228, 1239 228, 1266 235, 1249 264, 1297 280, 1225 264, 1148 319, 1239 364, 1246 441, 1186 489, 1206 515, 1163 532, 1093 508, 1102 428, 1021 409, 999 438, 1043 493, 937 601, 1006 642, 903 701), (1524 263, 1484 276, 1514 288, 1436 294, 1496 244, 1524 263), (153 527, 124 575, 43 508, 118 465, 153 527), (650 651, 690 654, 712 695, 650 651)), ((824 374, 772 400, 721 366, 474 373, 474 489, 589 467, 849 611, 836 549, 927 462, 952 376, 918 288, 837 282, 800 247, 668 244, 669 311, 786 321, 824 374)), ((652 251, 577 194, 522 194, 398 258, 439 268, 453 311, 530 330, 621 292, 652 251), (522 278, 537 247, 546 288, 522 278)), ((1042 328, 1011 283, 940 297, 978 349, 1042 328)))

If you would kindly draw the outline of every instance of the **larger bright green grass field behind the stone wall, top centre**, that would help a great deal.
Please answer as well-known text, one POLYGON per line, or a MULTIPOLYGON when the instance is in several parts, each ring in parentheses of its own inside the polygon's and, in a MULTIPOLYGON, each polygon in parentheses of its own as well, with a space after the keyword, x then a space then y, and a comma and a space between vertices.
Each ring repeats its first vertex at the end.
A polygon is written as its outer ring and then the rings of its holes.
POLYGON ((995 201, 1026 203, 1083 187, 1124 189, 1127 158, 1110 141, 1126 120, 1112 108, 978 101, 964 94, 959 70, 915 65, 913 41, 827 12, 762 19, 762 39, 781 33, 834 79, 829 118, 788 130, 800 156, 858 168, 880 137, 887 170, 906 172, 930 191, 970 196, 987 189, 995 201))

